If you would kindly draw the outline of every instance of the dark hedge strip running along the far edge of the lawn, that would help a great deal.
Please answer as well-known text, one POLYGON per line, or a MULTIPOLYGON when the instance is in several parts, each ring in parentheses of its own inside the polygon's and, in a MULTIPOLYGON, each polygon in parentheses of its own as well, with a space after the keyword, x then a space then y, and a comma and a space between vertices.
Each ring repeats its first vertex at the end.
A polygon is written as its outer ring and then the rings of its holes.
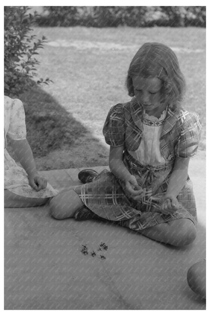
POLYGON ((132 27, 200 26, 205 27, 206 8, 189 6, 136 7, 44 7, 37 19, 44 26, 132 27))

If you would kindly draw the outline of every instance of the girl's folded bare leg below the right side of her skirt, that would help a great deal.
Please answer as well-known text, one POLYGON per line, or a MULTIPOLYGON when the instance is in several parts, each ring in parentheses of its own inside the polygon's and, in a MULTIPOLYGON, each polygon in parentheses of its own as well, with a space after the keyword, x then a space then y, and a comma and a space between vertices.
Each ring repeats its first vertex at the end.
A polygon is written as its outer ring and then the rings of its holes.
MULTIPOLYGON (((128 221, 126 227, 129 227, 128 221)), ((188 218, 180 218, 161 223, 142 229, 140 232, 148 238, 176 247, 189 245, 196 237, 195 225, 188 218)))

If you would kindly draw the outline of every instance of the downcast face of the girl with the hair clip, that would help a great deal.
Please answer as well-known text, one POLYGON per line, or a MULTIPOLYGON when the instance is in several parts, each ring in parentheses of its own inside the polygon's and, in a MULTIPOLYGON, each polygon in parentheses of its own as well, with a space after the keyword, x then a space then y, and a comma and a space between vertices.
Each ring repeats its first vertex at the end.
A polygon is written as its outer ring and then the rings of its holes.
POLYGON ((166 104, 161 103, 162 81, 156 77, 141 77, 133 76, 133 88, 135 97, 139 104, 142 105, 146 113, 160 117, 163 110, 166 109, 166 104))

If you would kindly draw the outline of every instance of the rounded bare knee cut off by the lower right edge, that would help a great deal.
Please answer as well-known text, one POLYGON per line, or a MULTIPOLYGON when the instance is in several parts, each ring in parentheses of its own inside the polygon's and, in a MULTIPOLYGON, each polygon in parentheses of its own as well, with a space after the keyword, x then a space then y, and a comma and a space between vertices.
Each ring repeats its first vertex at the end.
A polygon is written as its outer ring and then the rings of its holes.
POLYGON ((192 291, 198 294, 202 299, 206 295, 206 264, 205 259, 194 263, 187 271, 187 283, 192 291))

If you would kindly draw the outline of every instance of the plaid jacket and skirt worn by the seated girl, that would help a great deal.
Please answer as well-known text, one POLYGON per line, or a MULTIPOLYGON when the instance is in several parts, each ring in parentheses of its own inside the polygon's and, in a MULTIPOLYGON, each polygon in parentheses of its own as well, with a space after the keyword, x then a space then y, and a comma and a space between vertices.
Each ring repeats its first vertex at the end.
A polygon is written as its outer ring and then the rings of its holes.
POLYGON ((125 184, 109 170, 103 170, 92 182, 77 186, 75 191, 82 202, 98 216, 126 223, 141 230, 163 222, 188 218, 196 223, 196 205, 189 176, 178 194, 180 208, 173 215, 161 213, 176 157, 192 157, 198 147, 201 126, 196 113, 169 106, 160 136, 160 152, 165 163, 150 166, 136 160, 135 152, 143 138, 143 110, 135 97, 125 104, 113 106, 103 126, 103 135, 111 146, 124 145, 123 162, 145 189, 144 196, 135 201, 126 192, 125 184))

